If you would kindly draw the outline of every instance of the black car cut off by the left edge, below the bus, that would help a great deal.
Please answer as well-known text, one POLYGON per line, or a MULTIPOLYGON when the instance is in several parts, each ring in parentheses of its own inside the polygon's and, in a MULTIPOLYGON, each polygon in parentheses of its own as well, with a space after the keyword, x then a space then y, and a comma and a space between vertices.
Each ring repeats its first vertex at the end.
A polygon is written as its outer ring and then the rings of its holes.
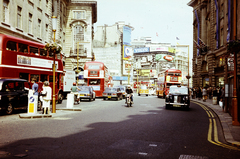
POLYGON ((12 114, 14 109, 28 108, 29 83, 24 79, 0 78, 0 110, 12 114))

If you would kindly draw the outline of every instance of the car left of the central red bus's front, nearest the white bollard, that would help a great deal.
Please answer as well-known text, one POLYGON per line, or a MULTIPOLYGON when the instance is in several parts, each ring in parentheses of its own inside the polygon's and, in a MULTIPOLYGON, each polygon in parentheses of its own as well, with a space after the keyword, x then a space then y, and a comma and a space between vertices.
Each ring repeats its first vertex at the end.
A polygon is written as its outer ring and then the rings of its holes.
POLYGON ((96 95, 93 91, 93 88, 91 86, 78 86, 78 88, 81 89, 81 91, 78 91, 80 94, 80 100, 82 99, 88 99, 89 101, 95 100, 96 95))

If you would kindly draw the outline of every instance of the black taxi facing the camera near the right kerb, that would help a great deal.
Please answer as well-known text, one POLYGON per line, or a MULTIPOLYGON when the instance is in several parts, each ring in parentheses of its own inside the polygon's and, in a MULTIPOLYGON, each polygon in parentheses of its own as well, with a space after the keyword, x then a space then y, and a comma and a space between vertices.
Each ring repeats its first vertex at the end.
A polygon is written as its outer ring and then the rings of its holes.
POLYGON ((172 85, 169 87, 169 94, 165 98, 166 109, 170 107, 189 108, 190 95, 186 86, 172 85))

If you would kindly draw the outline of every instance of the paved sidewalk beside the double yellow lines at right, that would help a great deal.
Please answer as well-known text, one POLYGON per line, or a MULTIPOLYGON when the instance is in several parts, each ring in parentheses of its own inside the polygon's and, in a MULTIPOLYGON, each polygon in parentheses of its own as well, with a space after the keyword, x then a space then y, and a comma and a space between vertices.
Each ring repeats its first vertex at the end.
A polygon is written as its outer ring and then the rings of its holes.
POLYGON ((240 126, 232 125, 232 117, 229 113, 224 113, 219 105, 213 105, 212 99, 207 99, 206 102, 203 102, 202 99, 191 99, 191 101, 204 104, 212 109, 220 119, 226 141, 232 145, 240 146, 240 126))

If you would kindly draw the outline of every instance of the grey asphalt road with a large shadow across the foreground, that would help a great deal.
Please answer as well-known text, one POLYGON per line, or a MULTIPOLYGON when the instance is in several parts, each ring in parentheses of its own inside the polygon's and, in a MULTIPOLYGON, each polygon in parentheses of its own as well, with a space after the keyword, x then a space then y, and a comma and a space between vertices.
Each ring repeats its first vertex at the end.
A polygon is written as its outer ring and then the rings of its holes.
POLYGON ((47 119, 0 116, 0 158, 240 156, 240 149, 225 142, 217 116, 205 106, 191 103, 189 110, 166 110, 164 100, 156 96, 135 96, 131 108, 124 100, 102 99, 82 101, 80 106, 80 112, 61 111, 47 119))

